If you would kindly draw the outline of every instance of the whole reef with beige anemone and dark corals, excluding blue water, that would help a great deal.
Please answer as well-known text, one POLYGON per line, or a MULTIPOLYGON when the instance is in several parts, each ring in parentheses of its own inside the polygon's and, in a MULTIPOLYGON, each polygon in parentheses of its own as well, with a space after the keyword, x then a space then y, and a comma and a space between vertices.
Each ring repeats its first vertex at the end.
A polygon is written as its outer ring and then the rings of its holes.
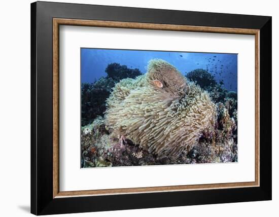
POLYGON ((83 84, 84 102, 108 95, 81 129, 82 167, 237 162, 237 93, 204 70, 187 75, 153 60, 146 75, 83 84))

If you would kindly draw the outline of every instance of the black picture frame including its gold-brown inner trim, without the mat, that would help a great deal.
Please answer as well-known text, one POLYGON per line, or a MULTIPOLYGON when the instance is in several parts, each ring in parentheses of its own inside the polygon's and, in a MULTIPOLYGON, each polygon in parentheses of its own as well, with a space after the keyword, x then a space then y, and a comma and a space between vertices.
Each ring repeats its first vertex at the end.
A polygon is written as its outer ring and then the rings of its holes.
POLYGON ((271 200, 271 49, 271 17, 266 16, 32 3, 31 213, 271 200), (255 181, 60 191, 60 25, 255 35, 255 181))

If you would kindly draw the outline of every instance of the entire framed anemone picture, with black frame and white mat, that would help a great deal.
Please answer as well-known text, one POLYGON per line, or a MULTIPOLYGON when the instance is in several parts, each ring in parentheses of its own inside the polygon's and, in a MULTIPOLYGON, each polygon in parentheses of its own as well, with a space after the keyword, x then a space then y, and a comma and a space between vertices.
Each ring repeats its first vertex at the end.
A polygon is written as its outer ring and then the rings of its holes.
POLYGON ((31 213, 271 200, 271 17, 31 4, 31 213))

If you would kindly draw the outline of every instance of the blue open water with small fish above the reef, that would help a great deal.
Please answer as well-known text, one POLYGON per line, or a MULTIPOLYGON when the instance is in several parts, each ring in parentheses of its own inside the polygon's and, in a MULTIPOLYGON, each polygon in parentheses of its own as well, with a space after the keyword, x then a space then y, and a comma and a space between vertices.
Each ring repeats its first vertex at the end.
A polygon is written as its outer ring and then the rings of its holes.
POLYGON ((146 73, 150 59, 160 58, 176 66, 183 75, 197 68, 211 73, 217 82, 223 81, 229 91, 237 91, 237 54, 193 53, 169 51, 81 49, 81 82, 93 83, 106 77, 105 69, 110 63, 138 68, 146 73))

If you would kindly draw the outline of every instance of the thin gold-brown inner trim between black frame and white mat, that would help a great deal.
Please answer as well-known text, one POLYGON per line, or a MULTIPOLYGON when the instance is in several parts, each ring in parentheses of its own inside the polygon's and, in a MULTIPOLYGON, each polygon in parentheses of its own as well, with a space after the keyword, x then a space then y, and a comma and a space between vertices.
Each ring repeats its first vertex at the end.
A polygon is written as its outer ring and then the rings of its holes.
POLYGON ((73 196, 94 196, 112 194, 171 192, 208 190, 222 188, 245 188, 259 186, 259 29, 220 28, 205 26, 150 24, 100 20, 79 20, 53 18, 53 198, 73 196), (170 31, 211 32, 255 35, 255 182, 220 183, 205 185, 182 185, 164 187, 143 187, 125 189, 104 189, 86 191, 59 191, 59 25, 91 26, 107 28, 133 28, 170 31))

